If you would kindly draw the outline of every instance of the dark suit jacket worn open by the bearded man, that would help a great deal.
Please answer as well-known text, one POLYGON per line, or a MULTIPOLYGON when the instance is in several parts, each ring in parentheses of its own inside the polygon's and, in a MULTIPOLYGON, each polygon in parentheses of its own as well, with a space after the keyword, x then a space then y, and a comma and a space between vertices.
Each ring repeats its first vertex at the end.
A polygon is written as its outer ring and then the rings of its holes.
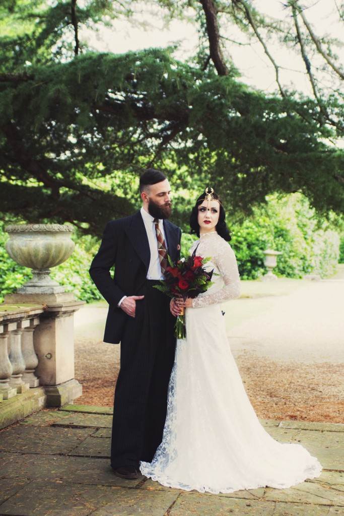
MULTIPOLYGON (((182 231, 169 220, 163 221, 168 253, 178 260, 182 231)), ((117 220, 105 227, 102 244, 94 256, 90 275, 109 303, 104 341, 118 344, 129 316, 117 305, 123 296, 142 295, 151 259, 148 236, 140 212, 117 220), (115 266, 113 278, 110 269, 115 266)))

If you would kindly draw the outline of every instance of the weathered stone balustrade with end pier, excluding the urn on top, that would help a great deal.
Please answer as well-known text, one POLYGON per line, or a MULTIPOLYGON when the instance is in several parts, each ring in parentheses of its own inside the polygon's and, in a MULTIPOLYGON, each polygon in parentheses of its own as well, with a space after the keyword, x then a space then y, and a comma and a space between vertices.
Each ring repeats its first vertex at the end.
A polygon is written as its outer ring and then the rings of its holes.
POLYGON ((0 304, 0 428, 81 395, 73 338, 81 304, 0 304))

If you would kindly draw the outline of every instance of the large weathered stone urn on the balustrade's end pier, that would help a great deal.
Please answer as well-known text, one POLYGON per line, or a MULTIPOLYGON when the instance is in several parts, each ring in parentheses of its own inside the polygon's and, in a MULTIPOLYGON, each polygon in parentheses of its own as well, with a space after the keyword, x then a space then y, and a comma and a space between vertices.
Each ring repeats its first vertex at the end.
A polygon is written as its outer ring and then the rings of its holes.
POLYGON ((18 288, 19 294, 59 294, 64 287, 50 278, 50 268, 63 263, 74 251, 72 226, 62 224, 8 225, 6 250, 11 258, 30 267, 33 277, 18 288))

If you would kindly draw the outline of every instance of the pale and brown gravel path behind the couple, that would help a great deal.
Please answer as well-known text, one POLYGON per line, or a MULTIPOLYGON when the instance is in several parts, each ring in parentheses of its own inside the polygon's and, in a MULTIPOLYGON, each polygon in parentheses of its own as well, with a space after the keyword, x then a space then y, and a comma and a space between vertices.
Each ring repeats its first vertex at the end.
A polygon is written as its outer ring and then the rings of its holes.
MULTIPOLYGON (((242 282, 225 305, 227 333, 259 417, 344 423, 344 276, 242 282)), ((102 342, 107 308, 76 314, 76 378, 87 405, 112 406, 120 346, 102 342)))

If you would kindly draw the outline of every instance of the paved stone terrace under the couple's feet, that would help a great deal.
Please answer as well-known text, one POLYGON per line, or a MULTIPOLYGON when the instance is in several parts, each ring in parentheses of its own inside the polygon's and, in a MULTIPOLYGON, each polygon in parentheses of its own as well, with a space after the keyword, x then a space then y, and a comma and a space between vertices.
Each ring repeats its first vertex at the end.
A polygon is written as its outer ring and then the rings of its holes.
POLYGON ((262 421, 273 438, 299 442, 324 467, 290 489, 231 494, 169 489, 109 466, 111 410, 43 410, 0 432, 0 516, 344 516, 344 424, 262 421))

